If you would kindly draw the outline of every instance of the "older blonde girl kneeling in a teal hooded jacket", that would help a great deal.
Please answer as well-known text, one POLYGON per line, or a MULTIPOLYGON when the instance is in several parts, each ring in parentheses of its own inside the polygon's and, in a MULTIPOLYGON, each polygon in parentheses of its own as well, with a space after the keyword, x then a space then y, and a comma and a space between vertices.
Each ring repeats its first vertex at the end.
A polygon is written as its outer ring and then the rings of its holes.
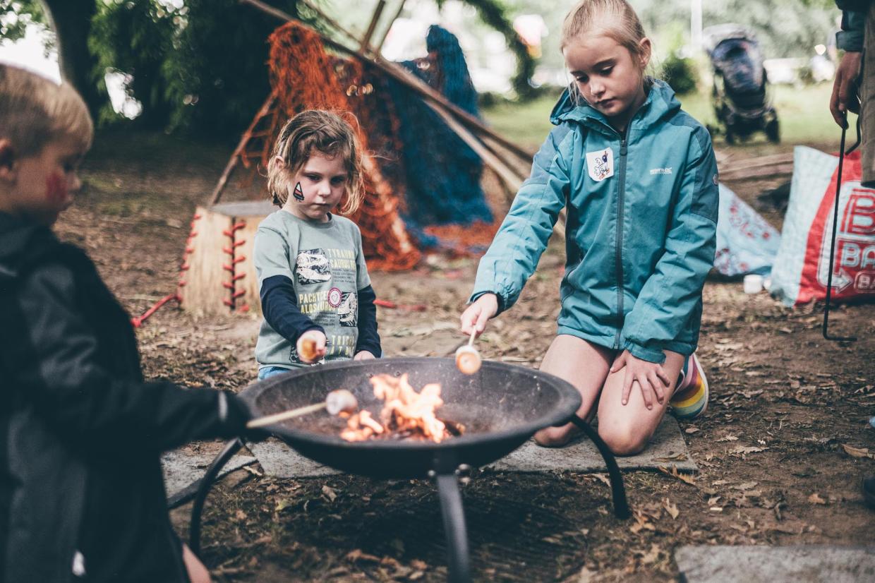
MULTIPOLYGON (((650 40, 625 0, 584 0, 565 18, 574 82, 531 176, 479 263, 462 331, 480 334, 535 271, 567 208, 558 335, 541 369, 573 384, 580 414, 617 454, 638 453, 673 401, 704 411, 693 352, 714 261, 718 172, 711 137, 644 74, 650 40), (674 398, 673 398, 674 397, 674 398)), ((562 446, 572 426, 535 434, 562 446)))

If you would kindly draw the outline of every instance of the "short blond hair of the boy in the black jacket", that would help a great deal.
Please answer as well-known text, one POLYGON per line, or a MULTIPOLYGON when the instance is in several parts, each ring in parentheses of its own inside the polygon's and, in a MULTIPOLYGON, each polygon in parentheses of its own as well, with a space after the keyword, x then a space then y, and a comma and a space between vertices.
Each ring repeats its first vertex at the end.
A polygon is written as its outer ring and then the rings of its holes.
POLYGON ((18 156, 37 154, 59 137, 91 145, 95 126, 81 96, 69 83, 0 63, 0 138, 18 156))

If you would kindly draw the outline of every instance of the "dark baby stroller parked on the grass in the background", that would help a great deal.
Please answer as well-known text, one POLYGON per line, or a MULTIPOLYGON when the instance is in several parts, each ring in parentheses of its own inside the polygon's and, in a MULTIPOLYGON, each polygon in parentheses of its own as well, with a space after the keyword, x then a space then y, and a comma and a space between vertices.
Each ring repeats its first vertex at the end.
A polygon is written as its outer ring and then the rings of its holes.
POLYGON ((780 142, 778 114, 768 95, 766 69, 753 32, 741 25, 716 25, 704 29, 702 39, 714 67, 711 97, 718 123, 725 126, 726 143, 760 130, 769 141, 780 142))

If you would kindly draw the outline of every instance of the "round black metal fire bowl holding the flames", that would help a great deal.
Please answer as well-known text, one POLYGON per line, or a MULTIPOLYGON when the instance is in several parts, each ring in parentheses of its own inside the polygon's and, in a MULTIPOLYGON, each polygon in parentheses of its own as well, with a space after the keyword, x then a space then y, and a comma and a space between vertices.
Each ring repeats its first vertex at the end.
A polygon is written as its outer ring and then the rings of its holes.
POLYGON ((514 451, 536 431, 567 423, 580 407, 577 390, 556 376, 504 362, 483 362, 463 375, 449 358, 383 358, 346 361, 292 371, 256 383, 243 393, 257 415, 320 403, 331 390, 353 392, 360 409, 379 418, 370 376, 407 373, 414 389, 441 384, 438 418, 465 425, 465 434, 441 443, 412 439, 347 442, 346 421, 318 411, 269 427, 297 452, 341 471, 374 478, 424 478, 460 465, 479 467, 514 451))

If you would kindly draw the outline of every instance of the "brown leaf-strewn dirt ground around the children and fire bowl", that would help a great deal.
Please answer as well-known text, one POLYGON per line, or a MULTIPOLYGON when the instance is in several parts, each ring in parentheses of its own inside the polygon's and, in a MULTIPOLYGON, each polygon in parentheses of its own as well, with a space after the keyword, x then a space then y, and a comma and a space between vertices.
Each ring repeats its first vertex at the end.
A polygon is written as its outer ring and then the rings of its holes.
MULTIPOLYGON (((761 153, 749 146, 732 159, 761 153)), ((83 193, 59 233, 88 249, 123 304, 142 313, 174 291, 193 208, 227 156, 223 147, 164 136, 98 136, 83 193)), ((752 201, 780 182, 728 186, 752 201)), ((780 213, 766 217, 780 228, 780 213)), ((487 358, 538 365, 555 334, 562 264, 554 244, 519 305, 480 342, 487 358)), ((462 340, 454 329, 475 269, 476 259, 435 256, 408 273, 372 273, 379 297, 428 306, 380 308, 388 355, 451 352, 462 340)), ((625 522, 613 517, 603 475, 475 472, 464 497, 476 579, 674 580, 673 551, 683 544, 871 543, 875 515, 859 482, 875 474, 875 463, 844 446, 875 452, 867 424, 875 414, 875 307, 837 310, 837 333, 859 341, 836 344, 821 336, 822 306, 788 309, 718 279, 706 284, 704 302, 698 354, 711 404, 703 418, 681 423, 702 471, 627 473, 634 518, 625 522)), ((194 320, 165 308, 138 333, 146 374, 241 390, 255 378, 256 331, 252 315, 194 320)), ((173 511, 183 537, 189 511, 173 511)), ((445 577, 428 481, 276 480, 257 466, 240 470, 210 496, 203 545, 221 582, 445 577)))

